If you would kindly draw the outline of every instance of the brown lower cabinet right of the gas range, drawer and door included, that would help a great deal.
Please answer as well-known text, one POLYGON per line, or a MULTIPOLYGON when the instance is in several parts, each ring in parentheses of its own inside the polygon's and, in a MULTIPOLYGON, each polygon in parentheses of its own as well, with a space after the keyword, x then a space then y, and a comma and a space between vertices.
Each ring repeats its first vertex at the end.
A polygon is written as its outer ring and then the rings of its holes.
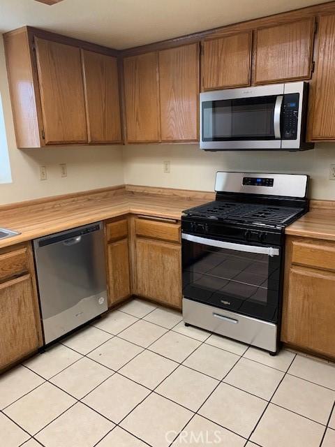
POLYGON ((288 237, 281 339, 335 358, 335 242, 288 237))

